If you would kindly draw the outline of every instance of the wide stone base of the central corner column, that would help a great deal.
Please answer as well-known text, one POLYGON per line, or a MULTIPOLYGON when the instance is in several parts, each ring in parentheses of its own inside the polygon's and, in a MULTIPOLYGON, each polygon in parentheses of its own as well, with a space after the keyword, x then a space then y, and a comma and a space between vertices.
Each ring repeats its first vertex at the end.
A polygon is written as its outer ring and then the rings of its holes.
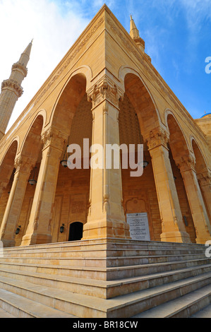
POLYGON ((119 239, 131 239, 130 226, 119 221, 95 221, 83 226, 83 239, 100 239, 116 237, 119 239))

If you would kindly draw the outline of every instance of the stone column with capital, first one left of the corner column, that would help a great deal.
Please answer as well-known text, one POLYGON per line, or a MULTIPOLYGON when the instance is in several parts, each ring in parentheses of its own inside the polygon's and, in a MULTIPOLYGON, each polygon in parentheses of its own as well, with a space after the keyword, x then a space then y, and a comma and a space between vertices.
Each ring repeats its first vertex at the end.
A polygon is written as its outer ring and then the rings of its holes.
POLYGON ((42 161, 28 228, 21 246, 44 244, 52 240, 52 206, 54 204, 59 162, 65 141, 66 137, 56 129, 50 128, 42 135, 42 142, 44 143, 42 161))

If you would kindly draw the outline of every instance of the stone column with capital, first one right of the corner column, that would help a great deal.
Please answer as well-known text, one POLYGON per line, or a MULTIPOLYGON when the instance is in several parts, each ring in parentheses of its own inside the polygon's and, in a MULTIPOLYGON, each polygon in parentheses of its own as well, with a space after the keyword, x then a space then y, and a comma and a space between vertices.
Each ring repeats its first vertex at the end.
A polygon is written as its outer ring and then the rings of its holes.
POLYGON ((169 135, 162 129, 145 137, 152 158, 159 212, 162 220, 161 240, 164 242, 191 242, 181 215, 179 198, 169 160, 169 135))

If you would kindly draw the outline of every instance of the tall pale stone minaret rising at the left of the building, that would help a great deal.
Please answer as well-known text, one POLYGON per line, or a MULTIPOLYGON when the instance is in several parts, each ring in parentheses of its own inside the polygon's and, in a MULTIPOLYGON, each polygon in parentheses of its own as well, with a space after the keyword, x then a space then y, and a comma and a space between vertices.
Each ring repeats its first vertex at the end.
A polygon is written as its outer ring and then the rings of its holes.
POLYGON ((23 95, 23 88, 21 83, 27 76, 27 64, 30 59, 30 52, 32 48, 32 41, 21 54, 20 59, 16 64, 13 64, 11 76, 8 80, 1 83, 0 95, 0 139, 4 136, 8 121, 16 105, 18 98, 23 95))

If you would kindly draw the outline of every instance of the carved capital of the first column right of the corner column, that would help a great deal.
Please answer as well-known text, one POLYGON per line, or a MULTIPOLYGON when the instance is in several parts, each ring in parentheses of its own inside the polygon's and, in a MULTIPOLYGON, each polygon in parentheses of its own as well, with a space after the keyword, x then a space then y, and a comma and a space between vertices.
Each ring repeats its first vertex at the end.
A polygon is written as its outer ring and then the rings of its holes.
POLYGON ((147 136, 145 136, 145 143, 147 143, 149 150, 157 148, 157 146, 164 146, 167 148, 168 141, 169 133, 162 128, 153 129, 147 136))

